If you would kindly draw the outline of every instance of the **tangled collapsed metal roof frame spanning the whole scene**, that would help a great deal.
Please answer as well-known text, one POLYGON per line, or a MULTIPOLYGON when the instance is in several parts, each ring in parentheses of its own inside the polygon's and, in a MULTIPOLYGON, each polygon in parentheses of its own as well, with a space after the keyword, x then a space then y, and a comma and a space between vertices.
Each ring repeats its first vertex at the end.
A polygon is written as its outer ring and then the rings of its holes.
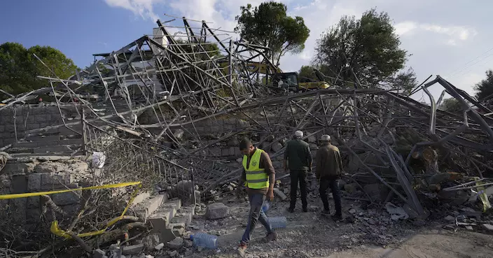
POLYGON ((430 105, 377 87, 338 87, 337 79, 328 89, 286 93, 268 83, 277 71, 268 48, 233 40, 229 31, 204 21, 181 20, 182 27, 158 20, 153 35, 95 55, 102 59, 69 79, 43 77, 52 87, 6 99, 0 110, 50 92, 60 115, 72 106, 77 119, 62 115, 63 124, 26 135, 70 129, 81 135, 76 153, 83 155, 111 152, 118 142, 127 148, 119 155, 146 157, 161 185, 193 180, 202 193, 239 175, 237 165, 211 155, 211 148, 236 148, 246 136, 279 160, 296 130, 307 131, 305 139, 331 135, 349 178, 363 183, 372 181, 370 175, 390 190, 387 201, 397 197, 419 215, 426 214, 425 199, 459 189, 478 194, 492 185, 482 182, 493 172, 493 111, 440 76, 416 89, 426 92, 430 105), (438 100, 427 89, 436 83, 444 88, 438 100), (462 113, 437 108, 445 92, 462 113))

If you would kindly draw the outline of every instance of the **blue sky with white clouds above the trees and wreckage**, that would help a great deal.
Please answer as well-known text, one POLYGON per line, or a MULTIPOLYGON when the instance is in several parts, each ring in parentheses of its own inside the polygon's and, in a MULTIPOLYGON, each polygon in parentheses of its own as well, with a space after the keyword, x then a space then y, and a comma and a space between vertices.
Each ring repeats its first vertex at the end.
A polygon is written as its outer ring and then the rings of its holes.
MULTIPOLYGON (((376 7, 394 20, 408 66, 419 80, 445 76, 473 93, 472 85, 493 68, 493 1, 480 0, 289 0, 289 14, 304 17, 311 29, 305 51, 281 59, 284 71, 309 64, 319 35, 342 15, 356 15, 376 7)), ((92 54, 118 50, 144 34, 151 34, 155 19, 164 14, 214 22, 211 27, 233 29, 239 6, 261 0, 51 0, 3 1, 0 43, 13 41, 29 48, 50 45, 81 67, 92 54)), ((441 89, 432 88, 438 96, 441 89)), ((415 96, 422 98, 421 95, 415 96)))

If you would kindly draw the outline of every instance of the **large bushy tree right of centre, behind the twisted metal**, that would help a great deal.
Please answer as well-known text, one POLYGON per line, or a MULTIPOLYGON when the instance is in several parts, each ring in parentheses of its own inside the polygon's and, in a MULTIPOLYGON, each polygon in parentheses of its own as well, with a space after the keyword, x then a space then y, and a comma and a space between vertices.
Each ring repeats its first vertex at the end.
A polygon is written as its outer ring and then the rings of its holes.
POLYGON ((345 16, 317 41, 314 63, 324 65, 327 76, 363 85, 403 80, 410 82, 414 73, 396 73, 404 68, 406 51, 387 13, 371 9, 359 20, 345 16))

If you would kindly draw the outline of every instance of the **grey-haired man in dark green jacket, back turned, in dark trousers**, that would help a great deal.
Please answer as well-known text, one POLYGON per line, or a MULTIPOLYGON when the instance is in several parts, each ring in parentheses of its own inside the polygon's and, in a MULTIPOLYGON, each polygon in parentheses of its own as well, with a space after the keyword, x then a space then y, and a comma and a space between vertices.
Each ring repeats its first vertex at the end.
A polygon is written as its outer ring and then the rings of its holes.
POLYGON ((312 172, 312 155, 310 146, 303 141, 303 131, 295 131, 293 140, 289 141, 284 150, 284 171, 289 168, 291 175, 291 205, 290 213, 294 212, 296 206, 296 194, 298 192, 298 181, 300 182, 301 204, 303 212, 307 212, 307 173, 312 172), (286 163, 289 166, 286 166, 286 163))

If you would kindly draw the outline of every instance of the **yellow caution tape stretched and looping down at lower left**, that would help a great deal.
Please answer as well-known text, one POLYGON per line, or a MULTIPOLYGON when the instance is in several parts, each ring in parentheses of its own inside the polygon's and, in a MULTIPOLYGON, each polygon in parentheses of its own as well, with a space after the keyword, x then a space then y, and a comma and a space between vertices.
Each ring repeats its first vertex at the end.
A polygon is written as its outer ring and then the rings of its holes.
MULTIPOLYGON (((25 194, 4 194, 0 195, 0 200, 5 200, 5 199, 16 199, 16 198, 25 198, 25 197, 32 197, 32 196, 41 196, 41 195, 48 195, 48 194, 61 194, 64 192, 74 192, 74 191, 82 191, 82 190, 94 190, 94 189, 108 189, 108 188, 119 188, 119 187, 127 187, 127 186, 132 186, 132 185, 137 185, 137 188, 132 192, 132 195, 130 195, 130 200, 127 203, 127 206, 125 207, 125 210, 123 210, 123 213, 108 222, 106 224, 106 227, 104 229, 98 230, 98 231, 92 231, 88 233, 82 233, 78 234, 78 237, 85 237, 85 236, 97 236, 100 234, 103 234, 109 227, 111 227, 113 224, 116 222, 120 221, 123 219, 123 216, 125 213, 127 213, 128 208, 130 205, 132 205, 132 202, 135 199, 135 196, 137 196, 137 193, 139 192, 139 189, 142 187, 141 182, 120 182, 118 184, 112 184, 112 185, 97 185, 97 186, 92 186, 92 187, 81 187, 77 189, 65 189, 65 190, 56 190, 56 191, 50 191, 50 192, 32 192, 32 193, 25 193, 25 194)), ((63 231, 58 227, 58 221, 55 220, 51 222, 51 227, 50 227, 51 233, 57 235, 57 236, 62 236, 64 238, 71 238, 69 234, 67 234, 66 231, 63 231)))

